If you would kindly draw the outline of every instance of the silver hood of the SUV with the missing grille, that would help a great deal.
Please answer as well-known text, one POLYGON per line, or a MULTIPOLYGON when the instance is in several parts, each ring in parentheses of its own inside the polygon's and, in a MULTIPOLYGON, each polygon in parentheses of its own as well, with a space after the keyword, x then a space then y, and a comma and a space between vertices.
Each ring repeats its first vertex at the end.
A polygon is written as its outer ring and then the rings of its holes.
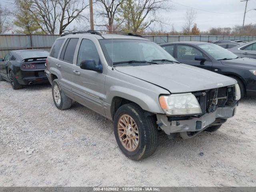
POLYGON ((186 64, 120 66, 116 70, 150 82, 171 93, 194 92, 236 84, 236 80, 186 64))

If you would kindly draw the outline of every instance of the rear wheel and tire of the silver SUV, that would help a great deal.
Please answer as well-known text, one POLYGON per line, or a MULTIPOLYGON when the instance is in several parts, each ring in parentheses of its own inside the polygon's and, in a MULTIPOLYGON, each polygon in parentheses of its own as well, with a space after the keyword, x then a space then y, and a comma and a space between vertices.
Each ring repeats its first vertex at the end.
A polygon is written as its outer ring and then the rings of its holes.
POLYGON ((60 90, 57 79, 52 82, 52 98, 55 106, 59 110, 68 109, 72 106, 72 99, 66 96, 62 90, 60 90))

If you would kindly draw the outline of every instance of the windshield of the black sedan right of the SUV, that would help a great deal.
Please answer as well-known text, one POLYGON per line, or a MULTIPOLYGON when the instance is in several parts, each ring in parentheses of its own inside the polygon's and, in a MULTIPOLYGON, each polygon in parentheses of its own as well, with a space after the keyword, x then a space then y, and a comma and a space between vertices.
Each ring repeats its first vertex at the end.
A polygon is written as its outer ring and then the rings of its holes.
POLYGON ((237 58, 237 55, 216 44, 202 44, 198 46, 202 48, 204 51, 206 51, 208 54, 210 54, 216 60, 237 58))

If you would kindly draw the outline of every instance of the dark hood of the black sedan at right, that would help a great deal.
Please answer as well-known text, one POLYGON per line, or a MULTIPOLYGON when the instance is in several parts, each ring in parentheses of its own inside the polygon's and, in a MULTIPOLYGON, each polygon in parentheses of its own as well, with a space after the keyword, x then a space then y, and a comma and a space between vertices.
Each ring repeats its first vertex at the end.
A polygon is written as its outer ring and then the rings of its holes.
POLYGON ((222 64, 234 67, 242 67, 246 69, 256 69, 256 59, 252 58, 237 58, 232 60, 222 60, 222 64))

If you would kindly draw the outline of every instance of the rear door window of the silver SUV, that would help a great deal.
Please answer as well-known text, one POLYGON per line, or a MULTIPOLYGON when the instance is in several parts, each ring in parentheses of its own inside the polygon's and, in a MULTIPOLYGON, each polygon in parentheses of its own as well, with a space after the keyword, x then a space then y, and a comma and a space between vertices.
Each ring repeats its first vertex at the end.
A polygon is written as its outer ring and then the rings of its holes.
POLYGON ((62 52, 60 54, 60 59, 73 63, 74 53, 76 50, 76 46, 79 38, 69 38, 65 45, 63 46, 62 52))

